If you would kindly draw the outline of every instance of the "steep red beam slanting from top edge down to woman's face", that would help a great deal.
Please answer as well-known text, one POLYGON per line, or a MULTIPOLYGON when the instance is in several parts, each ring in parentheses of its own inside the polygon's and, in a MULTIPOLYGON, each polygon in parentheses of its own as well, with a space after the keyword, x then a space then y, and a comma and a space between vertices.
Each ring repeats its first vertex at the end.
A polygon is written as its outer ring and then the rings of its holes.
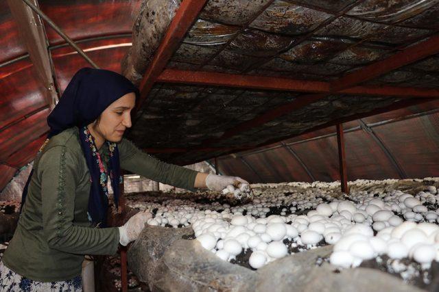
POLYGON ((174 51, 178 49, 180 41, 185 37, 189 27, 202 10, 206 0, 185 0, 180 4, 176 16, 171 21, 163 41, 158 47, 150 66, 139 85, 140 100, 139 109, 150 92, 152 85, 156 82, 158 75, 163 71, 174 51))

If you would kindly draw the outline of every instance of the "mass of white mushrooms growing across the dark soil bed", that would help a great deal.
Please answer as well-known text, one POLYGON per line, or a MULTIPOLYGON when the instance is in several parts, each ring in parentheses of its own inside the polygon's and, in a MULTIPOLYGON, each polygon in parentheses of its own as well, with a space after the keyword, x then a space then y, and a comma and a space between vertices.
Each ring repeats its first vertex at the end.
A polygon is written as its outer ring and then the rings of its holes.
POLYGON ((386 254, 427 268, 439 260, 438 190, 434 185, 415 195, 389 190, 396 182, 356 181, 357 189, 344 199, 331 196, 340 183, 252 185, 256 198, 236 207, 169 200, 145 209, 150 225, 191 225, 196 240, 224 261, 250 252, 254 269, 293 248, 321 244, 333 245, 330 262, 337 267, 357 267, 386 254))

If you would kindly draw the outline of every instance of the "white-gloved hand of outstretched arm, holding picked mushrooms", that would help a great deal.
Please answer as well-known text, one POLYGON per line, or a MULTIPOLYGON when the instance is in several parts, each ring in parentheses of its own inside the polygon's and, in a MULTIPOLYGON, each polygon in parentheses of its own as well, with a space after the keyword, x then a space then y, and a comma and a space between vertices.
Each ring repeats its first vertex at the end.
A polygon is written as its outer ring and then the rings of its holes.
POLYGON ((222 194, 233 193, 238 200, 252 198, 250 184, 238 176, 209 174, 206 177, 206 187, 211 191, 222 191, 222 194))

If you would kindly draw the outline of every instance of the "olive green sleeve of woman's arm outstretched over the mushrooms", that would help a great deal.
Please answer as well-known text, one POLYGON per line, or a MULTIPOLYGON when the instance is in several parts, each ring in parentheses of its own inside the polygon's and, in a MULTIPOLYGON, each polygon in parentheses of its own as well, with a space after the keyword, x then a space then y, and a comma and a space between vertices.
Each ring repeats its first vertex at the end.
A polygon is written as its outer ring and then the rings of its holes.
POLYGON ((126 139, 122 139, 118 148, 121 168, 124 170, 167 185, 174 185, 191 191, 195 190, 193 185, 198 172, 159 161, 126 139))

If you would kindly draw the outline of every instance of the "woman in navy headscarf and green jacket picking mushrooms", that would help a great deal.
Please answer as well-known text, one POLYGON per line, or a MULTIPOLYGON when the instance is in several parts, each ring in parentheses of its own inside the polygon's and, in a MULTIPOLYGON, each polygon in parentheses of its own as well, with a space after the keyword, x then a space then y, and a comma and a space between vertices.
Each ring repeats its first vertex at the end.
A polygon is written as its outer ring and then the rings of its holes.
POLYGON ((119 228, 106 227, 107 174, 117 205, 120 168, 185 189, 222 191, 247 183, 163 163, 123 139, 138 95, 115 72, 82 68, 75 74, 47 118, 48 139, 34 161, 19 224, 0 261, 0 291, 80 291, 84 255, 115 254, 119 243, 137 239, 146 213, 119 228))

